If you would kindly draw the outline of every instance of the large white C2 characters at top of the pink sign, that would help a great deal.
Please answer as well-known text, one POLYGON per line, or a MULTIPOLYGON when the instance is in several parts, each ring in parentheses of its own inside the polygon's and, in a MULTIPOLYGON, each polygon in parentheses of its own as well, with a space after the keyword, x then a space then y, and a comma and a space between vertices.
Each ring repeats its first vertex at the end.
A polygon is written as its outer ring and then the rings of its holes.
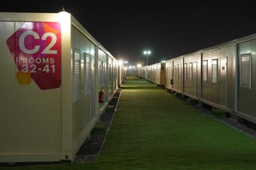
MULTIPOLYGON (((35 54, 36 52, 38 52, 40 46, 35 46, 34 49, 27 49, 25 47, 25 37, 27 35, 32 35, 35 39, 39 39, 39 35, 38 33, 34 32, 34 31, 25 31, 21 34, 20 39, 19 39, 19 46, 21 48, 21 50, 23 52, 25 52, 26 54, 35 54)), ((42 54, 57 54, 57 50, 50 50, 56 43, 57 41, 57 37, 55 34, 53 34, 52 32, 46 32, 44 33, 44 35, 42 36, 41 40, 46 40, 47 37, 51 37, 52 41, 50 42, 50 44, 42 51, 42 54)))

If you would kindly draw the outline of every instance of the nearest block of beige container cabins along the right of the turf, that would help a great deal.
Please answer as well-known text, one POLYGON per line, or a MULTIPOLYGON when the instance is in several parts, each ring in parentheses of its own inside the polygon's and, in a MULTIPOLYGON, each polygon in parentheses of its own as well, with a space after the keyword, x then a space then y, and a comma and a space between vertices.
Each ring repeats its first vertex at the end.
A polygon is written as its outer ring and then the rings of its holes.
POLYGON ((256 123, 255 58, 256 34, 182 55, 166 61, 165 87, 256 123))

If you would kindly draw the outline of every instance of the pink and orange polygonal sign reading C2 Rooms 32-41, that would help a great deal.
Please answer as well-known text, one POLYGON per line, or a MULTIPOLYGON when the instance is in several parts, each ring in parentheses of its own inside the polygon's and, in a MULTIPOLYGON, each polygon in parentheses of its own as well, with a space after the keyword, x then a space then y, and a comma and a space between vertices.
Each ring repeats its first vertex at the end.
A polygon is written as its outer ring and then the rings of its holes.
POLYGON ((6 43, 19 70, 19 84, 33 80, 42 90, 61 86, 60 23, 26 22, 6 43))

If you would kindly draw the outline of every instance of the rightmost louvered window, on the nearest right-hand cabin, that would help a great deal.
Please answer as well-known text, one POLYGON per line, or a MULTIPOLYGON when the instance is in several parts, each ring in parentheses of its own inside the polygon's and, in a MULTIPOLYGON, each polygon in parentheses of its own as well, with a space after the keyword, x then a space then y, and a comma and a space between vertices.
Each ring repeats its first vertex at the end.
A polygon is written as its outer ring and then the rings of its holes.
POLYGON ((250 87, 251 56, 243 55, 240 58, 240 85, 250 87))

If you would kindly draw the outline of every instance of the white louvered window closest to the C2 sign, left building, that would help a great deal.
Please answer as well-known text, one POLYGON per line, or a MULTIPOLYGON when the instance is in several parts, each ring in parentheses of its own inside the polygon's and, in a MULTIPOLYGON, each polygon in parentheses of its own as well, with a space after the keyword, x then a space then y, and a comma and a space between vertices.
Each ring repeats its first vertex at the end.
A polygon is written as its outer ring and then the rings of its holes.
POLYGON ((75 52, 74 60, 74 100, 81 98, 81 56, 79 52, 75 52))

